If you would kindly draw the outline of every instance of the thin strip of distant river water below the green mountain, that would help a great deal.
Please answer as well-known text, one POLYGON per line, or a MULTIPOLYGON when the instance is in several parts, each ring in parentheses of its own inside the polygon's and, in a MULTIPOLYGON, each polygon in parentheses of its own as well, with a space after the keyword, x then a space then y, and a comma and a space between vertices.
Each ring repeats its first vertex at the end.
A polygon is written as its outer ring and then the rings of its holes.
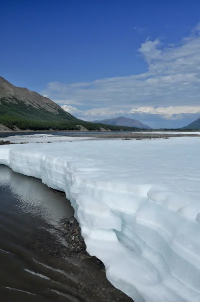
MULTIPOLYGON (((133 132, 133 131, 126 131, 126 133, 133 132)), ((108 134, 108 133, 122 133, 122 131, 90 131, 90 132, 83 132, 83 131, 60 131, 60 132, 2 132, 0 133, 0 137, 9 137, 15 135, 33 135, 33 134, 52 134, 52 135, 63 135, 63 136, 81 136, 81 135, 89 135, 89 134, 108 134)))

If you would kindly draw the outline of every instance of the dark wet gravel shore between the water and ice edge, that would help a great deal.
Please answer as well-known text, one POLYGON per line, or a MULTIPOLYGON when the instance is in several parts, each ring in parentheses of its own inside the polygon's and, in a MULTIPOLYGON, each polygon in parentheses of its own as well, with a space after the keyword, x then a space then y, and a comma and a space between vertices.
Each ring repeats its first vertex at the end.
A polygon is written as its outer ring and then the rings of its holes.
POLYGON ((134 302, 109 282, 102 261, 86 252, 78 222, 74 217, 60 221, 59 234, 60 237, 57 237, 52 232, 41 230, 29 238, 27 247, 45 256, 50 265, 56 260, 61 270, 65 268, 67 261, 68 269, 71 267, 70 271, 73 272, 73 278, 79 286, 79 294, 84 292, 83 295, 88 296, 88 301, 134 302))

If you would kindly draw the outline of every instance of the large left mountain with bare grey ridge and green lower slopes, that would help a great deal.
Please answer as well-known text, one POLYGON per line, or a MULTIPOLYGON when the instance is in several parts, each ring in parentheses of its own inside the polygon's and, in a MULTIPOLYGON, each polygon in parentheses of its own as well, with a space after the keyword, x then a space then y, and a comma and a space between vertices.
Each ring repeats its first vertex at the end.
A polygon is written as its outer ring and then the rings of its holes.
POLYGON ((135 130, 77 119, 49 98, 0 77, 0 130, 135 130))

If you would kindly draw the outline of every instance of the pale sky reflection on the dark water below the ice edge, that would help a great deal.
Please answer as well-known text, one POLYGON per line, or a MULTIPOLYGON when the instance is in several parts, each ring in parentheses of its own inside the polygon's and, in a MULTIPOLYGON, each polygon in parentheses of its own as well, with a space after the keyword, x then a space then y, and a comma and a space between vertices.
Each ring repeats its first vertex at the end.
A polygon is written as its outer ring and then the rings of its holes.
MULTIPOLYGON (((39 179, 14 173, 6 166, 0 167, 0 188, 3 186, 9 191, 12 197, 10 199, 12 211, 15 209, 16 214, 27 213, 28 216, 37 217, 39 215, 48 223, 56 223, 62 218, 73 215, 73 209, 64 193, 53 192, 39 179)), ((0 208, 3 205, 5 205, 4 201, 0 208)), ((8 200, 6 210, 8 210, 8 200)))

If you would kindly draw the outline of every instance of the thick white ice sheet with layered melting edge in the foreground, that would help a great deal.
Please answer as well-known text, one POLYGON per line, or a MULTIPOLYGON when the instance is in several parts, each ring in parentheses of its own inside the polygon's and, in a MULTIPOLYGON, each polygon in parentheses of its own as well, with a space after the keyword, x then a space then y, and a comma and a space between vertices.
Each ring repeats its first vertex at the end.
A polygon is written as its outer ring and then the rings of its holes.
POLYGON ((199 149, 198 137, 4 145, 0 164, 65 191, 88 253, 136 302, 199 302, 199 149))

